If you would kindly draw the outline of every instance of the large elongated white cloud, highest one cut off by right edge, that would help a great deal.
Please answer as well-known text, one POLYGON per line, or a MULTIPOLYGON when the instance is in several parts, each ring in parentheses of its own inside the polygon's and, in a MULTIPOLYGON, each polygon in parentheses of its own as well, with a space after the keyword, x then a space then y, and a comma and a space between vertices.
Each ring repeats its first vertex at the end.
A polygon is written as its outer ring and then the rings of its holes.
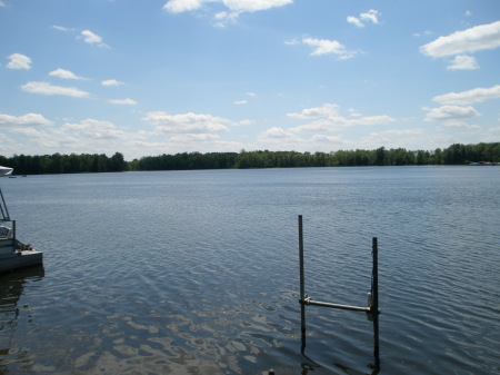
POLYGON ((420 51, 430 57, 444 57, 500 47, 500 21, 480 24, 440 37, 420 47, 420 51))

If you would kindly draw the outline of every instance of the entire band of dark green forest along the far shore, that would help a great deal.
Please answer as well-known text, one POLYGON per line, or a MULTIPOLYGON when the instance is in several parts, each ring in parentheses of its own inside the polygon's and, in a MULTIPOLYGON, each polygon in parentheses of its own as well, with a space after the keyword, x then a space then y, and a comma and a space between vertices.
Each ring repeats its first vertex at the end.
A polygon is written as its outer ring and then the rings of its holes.
POLYGON ((106 155, 0 156, 0 165, 14 168, 17 175, 78 174, 124 170, 187 170, 229 168, 293 168, 354 166, 464 165, 471 161, 500 161, 500 142, 454 144, 433 151, 404 148, 340 150, 332 152, 246 151, 182 152, 148 156, 126 161, 121 152, 106 155))

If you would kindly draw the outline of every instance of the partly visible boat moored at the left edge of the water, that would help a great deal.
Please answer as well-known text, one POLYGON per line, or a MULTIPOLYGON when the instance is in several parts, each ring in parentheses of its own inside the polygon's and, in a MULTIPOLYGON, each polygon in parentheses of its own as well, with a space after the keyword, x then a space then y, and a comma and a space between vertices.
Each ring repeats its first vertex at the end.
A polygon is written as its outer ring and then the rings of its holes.
MULTIPOLYGON (((8 176, 12 168, 0 166, 0 177, 8 176)), ((38 266, 43 263, 43 253, 33 249, 31 244, 21 243, 16 235, 16 220, 12 220, 0 188, 0 273, 18 268, 38 266)))

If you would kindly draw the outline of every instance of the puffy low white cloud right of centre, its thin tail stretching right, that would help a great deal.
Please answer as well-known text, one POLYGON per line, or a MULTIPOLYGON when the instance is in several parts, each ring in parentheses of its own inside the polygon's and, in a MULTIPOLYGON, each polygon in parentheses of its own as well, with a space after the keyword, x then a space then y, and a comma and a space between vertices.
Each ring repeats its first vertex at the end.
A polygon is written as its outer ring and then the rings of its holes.
POLYGON ((321 107, 307 108, 300 114, 288 114, 287 116, 309 121, 292 128, 292 131, 332 131, 352 126, 387 125, 396 121, 394 118, 387 115, 359 116, 359 114, 354 118, 348 118, 339 114, 339 108, 338 105, 324 103, 321 107))

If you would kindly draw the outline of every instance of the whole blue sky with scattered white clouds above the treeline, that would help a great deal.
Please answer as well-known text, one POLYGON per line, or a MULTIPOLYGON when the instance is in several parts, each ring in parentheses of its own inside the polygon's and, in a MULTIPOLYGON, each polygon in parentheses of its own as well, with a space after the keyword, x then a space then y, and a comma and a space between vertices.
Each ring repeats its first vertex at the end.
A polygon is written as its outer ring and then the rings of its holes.
POLYGON ((500 141, 498 0, 0 0, 0 155, 500 141))

